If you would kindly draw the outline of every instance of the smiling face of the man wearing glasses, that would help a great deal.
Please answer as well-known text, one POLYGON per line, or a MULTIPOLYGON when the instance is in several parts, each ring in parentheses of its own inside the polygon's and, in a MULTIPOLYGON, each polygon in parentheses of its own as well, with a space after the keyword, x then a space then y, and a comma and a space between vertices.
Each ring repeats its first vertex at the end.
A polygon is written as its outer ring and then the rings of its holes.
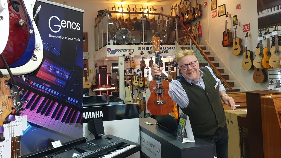
POLYGON ((188 80, 192 81, 199 81, 200 78, 200 71, 199 71, 199 61, 196 61, 197 58, 194 55, 186 55, 179 60, 179 71, 182 73, 182 75, 187 78, 188 80), (182 65, 189 64, 193 61, 196 61, 196 66, 191 67, 190 65, 186 70, 183 70, 181 68, 182 65))

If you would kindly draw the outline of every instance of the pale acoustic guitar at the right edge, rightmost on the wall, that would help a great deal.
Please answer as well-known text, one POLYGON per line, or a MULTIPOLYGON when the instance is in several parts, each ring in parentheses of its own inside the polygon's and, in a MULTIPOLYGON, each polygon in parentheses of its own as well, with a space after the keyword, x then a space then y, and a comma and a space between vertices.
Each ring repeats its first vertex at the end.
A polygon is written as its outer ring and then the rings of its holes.
POLYGON ((273 30, 272 34, 274 34, 274 33, 275 33, 275 35, 274 35, 275 46, 273 46, 270 49, 271 56, 269 58, 269 65, 273 68, 281 68, 281 65, 280 65, 280 60, 281 60, 280 49, 281 49, 281 46, 278 45, 278 25, 274 25, 274 30, 273 30))

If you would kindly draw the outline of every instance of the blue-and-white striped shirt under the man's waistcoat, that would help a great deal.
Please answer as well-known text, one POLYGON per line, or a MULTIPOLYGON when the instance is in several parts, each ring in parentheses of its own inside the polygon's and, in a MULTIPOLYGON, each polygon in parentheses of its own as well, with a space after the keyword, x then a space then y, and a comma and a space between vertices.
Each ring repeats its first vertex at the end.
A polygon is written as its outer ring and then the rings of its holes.
MULTIPOLYGON (((220 91, 225 91, 225 87, 222 85, 220 79, 218 79, 214 73, 213 70, 208 67, 205 66, 209 69, 209 71, 212 73, 213 77, 217 80, 218 85, 220 86, 220 91)), ((202 89, 205 90, 205 84, 203 81, 203 72, 199 69, 200 71, 200 78, 199 81, 191 81, 186 79, 184 76, 184 79, 189 83, 189 84, 195 84, 198 85, 199 87, 201 87, 202 89)), ((179 107, 181 109, 184 109, 188 106, 189 104, 189 99, 188 96, 186 95, 186 92, 184 91, 184 88, 182 87, 181 83, 178 80, 173 80, 169 83, 169 95, 171 96, 171 98, 173 99, 174 102, 176 102, 179 107)))

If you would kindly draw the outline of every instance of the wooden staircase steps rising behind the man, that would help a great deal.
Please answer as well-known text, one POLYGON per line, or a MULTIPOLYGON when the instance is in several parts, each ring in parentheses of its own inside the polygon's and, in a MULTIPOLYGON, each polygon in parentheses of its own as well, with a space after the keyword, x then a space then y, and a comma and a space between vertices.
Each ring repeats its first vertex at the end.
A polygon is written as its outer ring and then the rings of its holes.
MULTIPOLYGON (((229 73, 224 73, 224 67, 220 67, 220 61, 215 61, 215 56, 211 55, 211 51, 210 50, 206 50, 207 47, 205 45, 199 45, 203 51, 205 52, 205 54, 208 56, 208 58, 212 61, 212 63, 215 65, 215 67, 217 68, 217 70, 221 73, 222 77, 226 80, 226 82, 232 87, 232 89, 234 90, 238 90, 238 92, 240 91, 240 87, 235 87, 234 86, 234 80, 230 80, 229 79, 229 73)), ((181 49, 190 49, 190 47, 181 47, 181 49)), ((204 67, 204 66, 208 66, 208 64, 206 63, 200 63, 199 61, 199 66, 200 67, 204 67)), ((214 72, 215 73, 215 72, 214 72)), ((216 75, 216 74, 215 74, 216 75)), ((230 92, 227 87, 225 87, 226 92, 230 92)))

